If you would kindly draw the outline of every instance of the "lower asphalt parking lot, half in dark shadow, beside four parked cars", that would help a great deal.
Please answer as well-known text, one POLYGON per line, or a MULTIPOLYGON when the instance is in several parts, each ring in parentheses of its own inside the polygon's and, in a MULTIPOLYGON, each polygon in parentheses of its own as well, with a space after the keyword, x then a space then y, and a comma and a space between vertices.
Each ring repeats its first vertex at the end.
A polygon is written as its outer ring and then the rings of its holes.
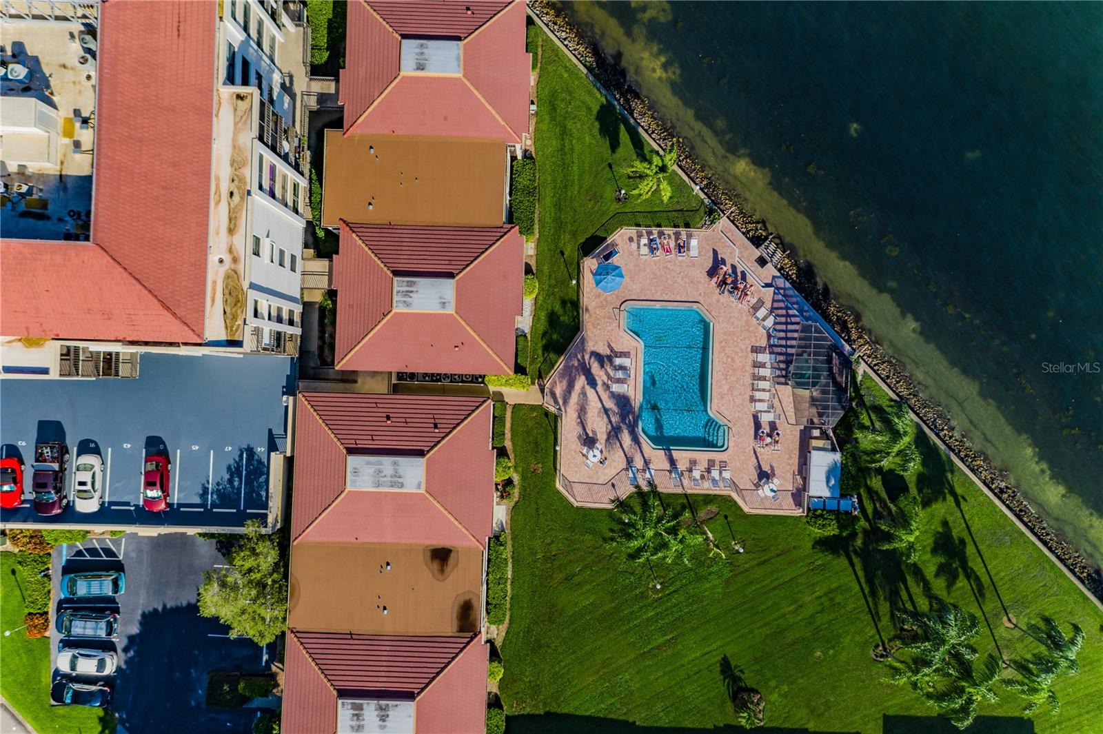
MULTIPOLYGON (((265 672, 271 649, 232 639, 216 619, 199 616, 203 572, 224 563, 211 540, 183 533, 93 538, 54 552, 54 591, 64 573, 121 570, 126 591, 92 604, 62 600, 58 612, 79 606, 119 614, 117 640, 67 640, 67 646, 117 650, 110 709, 120 734, 138 732, 248 732, 256 709, 207 709, 208 671, 265 672)), ((98 597, 97 597, 98 598, 98 597)), ((52 649, 63 640, 51 634, 52 649)), ((55 678, 57 672, 54 672, 55 678)), ((45 692, 44 692, 45 693, 45 692)))

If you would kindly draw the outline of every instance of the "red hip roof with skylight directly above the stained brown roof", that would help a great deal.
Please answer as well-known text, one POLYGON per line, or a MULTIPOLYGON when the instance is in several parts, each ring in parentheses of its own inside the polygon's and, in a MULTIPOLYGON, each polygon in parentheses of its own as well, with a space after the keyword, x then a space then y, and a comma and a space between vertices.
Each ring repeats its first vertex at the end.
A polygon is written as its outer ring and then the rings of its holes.
POLYGON ((493 515, 490 424, 485 398, 300 393, 291 537, 483 546, 493 515), (357 452, 424 455, 425 490, 346 489, 345 457, 357 452))

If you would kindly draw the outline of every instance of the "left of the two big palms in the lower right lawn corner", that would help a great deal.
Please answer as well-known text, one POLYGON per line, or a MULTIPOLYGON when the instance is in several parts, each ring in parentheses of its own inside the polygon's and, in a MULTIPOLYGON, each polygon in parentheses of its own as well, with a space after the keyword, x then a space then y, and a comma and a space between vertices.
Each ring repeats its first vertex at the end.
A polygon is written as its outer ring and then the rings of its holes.
POLYGON ((929 612, 901 609, 897 619, 904 633, 900 636, 900 651, 909 652, 907 659, 893 656, 892 681, 910 683, 912 688, 931 690, 934 681, 952 671, 953 660, 972 661, 976 658, 973 639, 979 634, 976 617, 936 596, 931 597, 929 612))

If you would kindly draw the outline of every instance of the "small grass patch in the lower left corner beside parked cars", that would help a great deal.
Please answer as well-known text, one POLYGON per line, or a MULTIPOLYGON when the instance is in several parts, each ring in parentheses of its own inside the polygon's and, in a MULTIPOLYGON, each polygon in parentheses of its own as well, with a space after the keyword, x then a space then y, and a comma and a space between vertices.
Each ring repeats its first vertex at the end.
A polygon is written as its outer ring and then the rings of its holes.
MULTIPOLYGON (((23 597, 15 554, 0 553, 0 625, 23 625, 23 597)), ((50 705, 53 658, 50 638, 30 639, 22 629, 0 636, 0 693, 39 734, 114 732, 115 716, 99 709, 50 705)))

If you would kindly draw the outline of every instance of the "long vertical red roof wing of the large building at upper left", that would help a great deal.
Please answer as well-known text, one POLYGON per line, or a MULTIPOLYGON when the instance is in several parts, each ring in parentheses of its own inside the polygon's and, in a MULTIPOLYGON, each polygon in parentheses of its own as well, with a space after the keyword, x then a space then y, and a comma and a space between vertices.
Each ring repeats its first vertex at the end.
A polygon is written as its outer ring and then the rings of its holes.
POLYGON ((107 2, 99 17, 92 239, 204 332, 217 3, 107 2))

